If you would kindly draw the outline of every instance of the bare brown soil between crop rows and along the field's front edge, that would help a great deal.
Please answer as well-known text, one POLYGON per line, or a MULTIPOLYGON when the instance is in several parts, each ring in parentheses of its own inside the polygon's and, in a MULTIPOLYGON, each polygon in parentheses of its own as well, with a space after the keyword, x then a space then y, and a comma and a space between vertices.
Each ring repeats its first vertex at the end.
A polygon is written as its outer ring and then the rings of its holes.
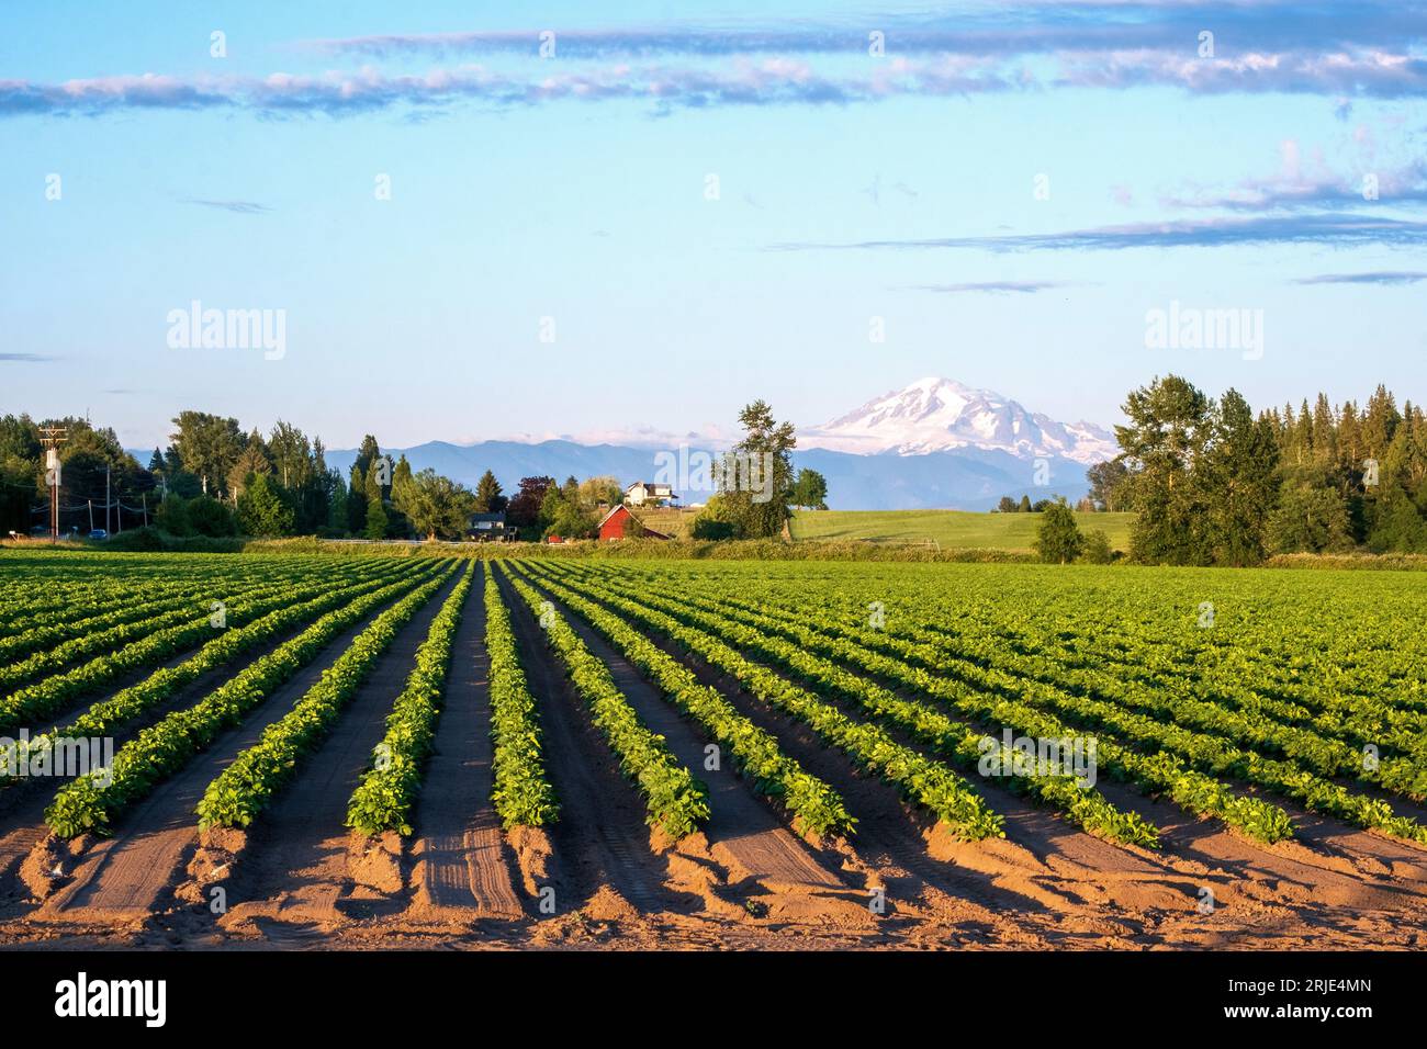
MULTIPOLYGON (((958 842, 811 731, 655 638, 843 795, 858 818, 856 833, 808 842, 788 826, 776 802, 708 749, 698 726, 658 688, 545 592, 609 667, 645 724, 709 786, 706 826, 676 843, 662 841, 646 826, 642 799, 621 775, 539 624, 504 581, 539 699, 561 818, 548 831, 502 831, 489 802, 479 575, 489 568, 477 571, 410 839, 368 842, 348 833, 342 821, 417 647, 454 582, 398 634, 332 732, 248 831, 200 833, 194 805, 214 775, 291 709, 360 627, 127 814, 113 838, 57 851, 41 841, 36 812, 43 804, 26 799, 0 814, 0 849, 13 842, 17 855, 19 843, 29 842, 23 862, 0 866, 0 943, 1427 946, 1427 851, 1301 812, 1299 841, 1263 846, 1107 782, 1100 786, 1112 801, 1163 828, 1160 851, 1099 841, 995 788, 986 796, 1006 815, 1007 838, 958 842)), ((183 699, 198 695, 186 691, 183 699)))

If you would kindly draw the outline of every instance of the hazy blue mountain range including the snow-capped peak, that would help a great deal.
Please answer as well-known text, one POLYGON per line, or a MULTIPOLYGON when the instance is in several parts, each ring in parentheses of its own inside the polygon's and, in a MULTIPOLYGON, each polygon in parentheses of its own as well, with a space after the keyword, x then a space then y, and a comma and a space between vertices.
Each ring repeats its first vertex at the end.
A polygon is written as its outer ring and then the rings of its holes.
MULTIPOLYGON (((712 450, 722 442, 691 448, 712 450)), ((414 448, 382 448, 405 455, 412 470, 434 468, 474 487, 487 470, 507 492, 522 477, 559 480, 612 474, 622 484, 656 477, 661 448, 634 444, 481 441, 458 445, 428 441, 414 448)), ((678 451, 671 444, 666 451, 678 451)), ((1032 500, 1050 494, 1075 501, 1089 484, 1085 470, 1113 458, 1114 438, 1089 422, 1056 422, 987 390, 948 378, 923 378, 905 390, 868 401, 846 415, 798 434, 796 467, 828 478, 833 510, 989 510, 1002 495, 1032 500), (1045 460, 1049 484, 1037 487, 1036 460, 1045 460)), ((354 448, 328 450, 327 462, 342 472, 357 458, 354 448)), ((684 502, 702 502, 706 491, 675 490, 684 502)))

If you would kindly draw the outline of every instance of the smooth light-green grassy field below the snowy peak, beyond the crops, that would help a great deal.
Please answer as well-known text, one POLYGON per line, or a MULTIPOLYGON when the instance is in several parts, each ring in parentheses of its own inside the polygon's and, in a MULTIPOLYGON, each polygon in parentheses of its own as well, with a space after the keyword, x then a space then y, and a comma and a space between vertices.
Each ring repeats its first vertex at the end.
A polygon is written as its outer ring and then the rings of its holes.
MULTIPOLYGON (((1099 528, 1126 549, 1133 514, 1076 514, 1080 528, 1099 528)), ((977 514, 966 510, 815 510, 793 517, 795 539, 929 542, 973 549, 1030 549, 1040 514, 977 514)))

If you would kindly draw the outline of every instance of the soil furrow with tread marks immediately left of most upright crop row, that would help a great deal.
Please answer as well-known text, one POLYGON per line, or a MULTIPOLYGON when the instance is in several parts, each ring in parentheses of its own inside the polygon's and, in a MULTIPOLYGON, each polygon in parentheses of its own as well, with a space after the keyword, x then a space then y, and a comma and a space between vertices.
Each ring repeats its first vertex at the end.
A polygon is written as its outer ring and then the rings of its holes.
POLYGON ((410 916, 450 922, 524 916, 512 856, 491 805, 491 659, 479 565, 451 645, 434 752, 417 802, 410 916))

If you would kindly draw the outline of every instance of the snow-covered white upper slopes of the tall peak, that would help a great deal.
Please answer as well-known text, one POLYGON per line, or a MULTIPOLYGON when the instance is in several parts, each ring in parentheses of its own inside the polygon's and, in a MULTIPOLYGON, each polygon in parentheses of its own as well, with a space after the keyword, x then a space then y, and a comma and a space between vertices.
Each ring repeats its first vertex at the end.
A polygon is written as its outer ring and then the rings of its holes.
POLYGON ((798 447, 853 455, 926 455, 956 448, 1016 458, 1059 457, 1093 464, 1113 458, 1114 437, 1090 422, 1056 422, 990 390, 922 378, 821 427, 798 432, 798 447))

